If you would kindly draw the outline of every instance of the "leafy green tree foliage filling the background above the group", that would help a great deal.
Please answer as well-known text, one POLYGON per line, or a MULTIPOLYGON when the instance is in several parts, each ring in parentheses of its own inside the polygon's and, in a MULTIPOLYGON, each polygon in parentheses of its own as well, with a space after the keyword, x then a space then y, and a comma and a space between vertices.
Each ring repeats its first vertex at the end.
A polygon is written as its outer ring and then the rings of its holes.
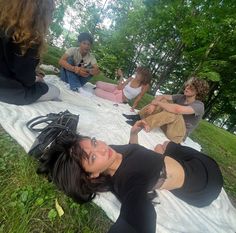
POLYGON ((224 126, 232 131, 235 27, 232 0, 58 0, 50 42, 60 39, 62 47, 70 47, 76 45, 79 32, 88 31, 94 35, 93 52, 108 77, 114 78, 118 67, 131 75, 136 66, 148 66, 152 93, 180 92, 191 75, 206 79, 210 92, 205 117, 224 119, 224 126))

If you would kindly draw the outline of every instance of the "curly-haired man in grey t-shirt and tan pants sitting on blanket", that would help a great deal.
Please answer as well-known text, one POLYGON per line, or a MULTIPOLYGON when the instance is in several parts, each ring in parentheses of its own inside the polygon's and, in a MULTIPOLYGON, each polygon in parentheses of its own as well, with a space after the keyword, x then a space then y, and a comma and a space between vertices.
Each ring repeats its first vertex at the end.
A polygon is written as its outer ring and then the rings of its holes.
POLYGON ((196 128, 204 114, 202 100, 208 93, 205 80, 196 77, 185 83, 184 94, 157 96, 149 105, 141 109, 138 115, 125 115, 134 125, 137 120, 145 122, 146 131, 160 127, 166 137, 180 143, 196 128))

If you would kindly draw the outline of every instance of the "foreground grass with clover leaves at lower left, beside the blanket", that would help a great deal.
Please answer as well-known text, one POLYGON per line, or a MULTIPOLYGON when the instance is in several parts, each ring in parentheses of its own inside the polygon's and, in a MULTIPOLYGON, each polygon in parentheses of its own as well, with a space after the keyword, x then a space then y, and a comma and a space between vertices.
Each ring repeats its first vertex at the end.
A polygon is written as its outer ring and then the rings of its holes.
POLYGON ((37 163, 0 128, 0 232, 104 233, 111 221, 95 204, 78 205, 36 174, 37 163), (59 217, 55 200, 65 214, 59 217))

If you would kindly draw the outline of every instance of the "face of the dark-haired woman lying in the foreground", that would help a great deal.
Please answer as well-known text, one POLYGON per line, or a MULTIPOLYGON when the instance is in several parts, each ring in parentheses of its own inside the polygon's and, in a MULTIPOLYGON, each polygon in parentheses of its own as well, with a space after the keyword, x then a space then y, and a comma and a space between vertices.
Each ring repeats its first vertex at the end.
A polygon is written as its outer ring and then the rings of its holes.
POLYGON ((82 160, 82 166, 91 178, 106 172, 116 160, 116 152, 103 141, 88 138, 82 140, 80 146, 88 155, 82 160))

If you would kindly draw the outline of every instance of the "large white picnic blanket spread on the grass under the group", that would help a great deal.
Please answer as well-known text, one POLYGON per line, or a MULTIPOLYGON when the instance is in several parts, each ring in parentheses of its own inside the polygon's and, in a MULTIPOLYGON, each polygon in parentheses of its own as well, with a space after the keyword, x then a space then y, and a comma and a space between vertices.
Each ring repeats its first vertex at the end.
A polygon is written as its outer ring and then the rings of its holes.
MULTIPOLYGON (((108 144, 126 144, 128 142, 130 126, 122 116, 122 113, 128 113, 130 110, 127 104, 116 106, 114 103, 94 95, 86 97, 72 92, 56 76, 47 76, 45 79, 60 88, 61 101, 37 102, 26 106, 0 102, 0 124, 26 151, 29 151, 37 136, 26 127, 26 122, 39 115, 46 115, 50 112, 58 113, 66 109, 80 115, 78 131, 82 135, 96 136, 108 144)), ((92 87, 92 84, 88 83, 85 88, 92 92, 92 87)), ((167 139, 160 130, 139 134, 139 143, 150 149, 165 140, 167 139)), ((197 150, 201 149, 200 145, 189 138, 184 144, 197 150)), ((155 201, 159 202, 155 206, 156 232, 236 232, 236 209, 230 203, 224 190, 217 200, 204 208, 190 206, 165 190, 158 191, 158 198, 155 201)), ((112 221, 117 219, 120 203, 112 193, 99 194, 94 202, 106 212, 112 221)))

